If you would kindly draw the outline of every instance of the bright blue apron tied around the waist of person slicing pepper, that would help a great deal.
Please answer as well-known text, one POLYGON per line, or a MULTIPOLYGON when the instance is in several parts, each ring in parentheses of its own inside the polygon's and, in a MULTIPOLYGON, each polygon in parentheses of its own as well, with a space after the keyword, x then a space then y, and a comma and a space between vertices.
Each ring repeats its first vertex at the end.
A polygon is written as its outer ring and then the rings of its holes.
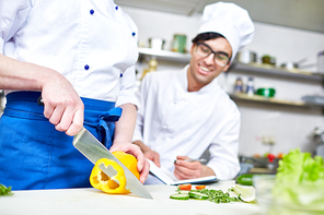
MULTIPOLYGON (((93 164, 73 147, 73 136, 57 131, 44 117, 39 96, 39 92, 7 95, 0 118, 0 183, 13 190, 90 187, 93 164)), ((121 108, 115 103, 81 99, 84 127, 109 148, 121 108)))

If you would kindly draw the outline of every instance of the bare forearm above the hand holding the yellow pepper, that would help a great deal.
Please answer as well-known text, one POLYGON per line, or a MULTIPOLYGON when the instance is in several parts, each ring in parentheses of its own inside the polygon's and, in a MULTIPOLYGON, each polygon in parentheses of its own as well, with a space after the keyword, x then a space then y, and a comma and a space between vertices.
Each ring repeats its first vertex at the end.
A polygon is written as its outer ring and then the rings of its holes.
POLYGON ((121 117, 115 122, 114 144, 131 143, 135 123, 136 123, 136 107, 132 104, 119 106, 123 108, 121 117))

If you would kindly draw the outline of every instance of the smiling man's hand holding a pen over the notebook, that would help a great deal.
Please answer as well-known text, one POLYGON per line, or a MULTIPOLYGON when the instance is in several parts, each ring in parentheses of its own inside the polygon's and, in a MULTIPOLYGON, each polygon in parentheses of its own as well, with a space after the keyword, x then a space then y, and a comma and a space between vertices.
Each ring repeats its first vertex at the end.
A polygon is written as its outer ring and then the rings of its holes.
POLYGON ((210 167, 201 165, 199 162, 185 162, 189 159, 187 156, 176 156, 176 162, 174 163, 174 176, 180 179, 194 179, 205 176, 213 176, 213 170, 210 167))

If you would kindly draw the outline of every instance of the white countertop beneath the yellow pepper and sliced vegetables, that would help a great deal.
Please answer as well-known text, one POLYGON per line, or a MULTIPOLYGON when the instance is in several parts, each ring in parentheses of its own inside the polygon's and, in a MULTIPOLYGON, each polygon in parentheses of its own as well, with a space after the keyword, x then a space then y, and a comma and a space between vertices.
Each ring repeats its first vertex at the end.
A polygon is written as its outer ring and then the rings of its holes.
MULTIPOLYGON (((208 186, 208 189, 223 190, 234 186, 234 181, 222 181, 208 186)), ((0 214, 3 215, 65 215, 65 214, 224 214, 258 215, 255 203, 221 203, 201 200, 171 200, 174 186, 146 186, 153 196, 147 200, 129 194, 107 194, 93 188, 13 191, 10 196, 0 196, 0 214)))

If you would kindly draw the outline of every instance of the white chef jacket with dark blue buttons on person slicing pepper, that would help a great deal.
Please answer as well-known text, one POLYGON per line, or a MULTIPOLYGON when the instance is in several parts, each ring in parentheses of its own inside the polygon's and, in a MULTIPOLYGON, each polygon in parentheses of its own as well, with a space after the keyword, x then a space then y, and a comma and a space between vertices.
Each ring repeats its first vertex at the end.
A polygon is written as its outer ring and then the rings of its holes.
POLYGON ((1 0, 0 53, 60 72, 81 97, 136 103, 137 26, 113 0, 1 0))

